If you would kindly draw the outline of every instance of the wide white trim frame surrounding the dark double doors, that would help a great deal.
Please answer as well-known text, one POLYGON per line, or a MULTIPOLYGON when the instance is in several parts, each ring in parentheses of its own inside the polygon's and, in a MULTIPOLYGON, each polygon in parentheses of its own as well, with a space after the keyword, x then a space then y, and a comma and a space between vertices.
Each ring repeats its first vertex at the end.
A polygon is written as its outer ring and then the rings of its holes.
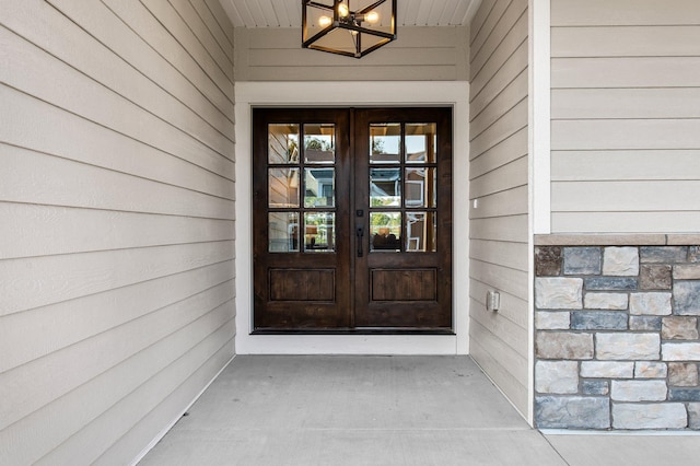
POLYGON ((453 199, 469 199, 469 83, 236 82, 236 337, 237 354, 467 354, 469 348, 469 206, 453 207, 454 335, 253 335, 252 108, 453 107, 453 199), (459 130, 455 130, 458 128, 459 130), (464 182, 463 182, 464 180, 464 182), (455 234, 455 232, 464 232, 455 234), (457 241, 456 238, 459 238, 457 241), (458 286, 457 286, 458 284, 458 286))

